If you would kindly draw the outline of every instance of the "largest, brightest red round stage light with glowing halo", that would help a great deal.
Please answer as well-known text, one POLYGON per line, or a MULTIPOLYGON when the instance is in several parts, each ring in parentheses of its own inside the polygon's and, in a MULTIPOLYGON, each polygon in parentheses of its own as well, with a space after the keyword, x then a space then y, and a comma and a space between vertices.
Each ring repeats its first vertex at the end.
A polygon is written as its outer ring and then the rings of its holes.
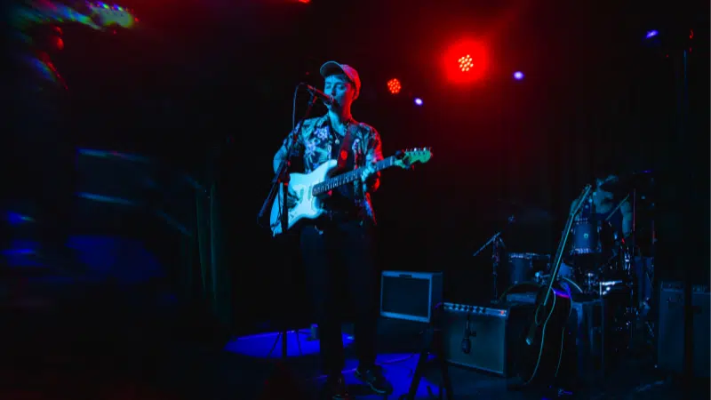
POLYGON ((444 76, 451 83, 474 83, 486 75, 489 52, 481 41, 462 39, 443 52, 441 63, 444 76))

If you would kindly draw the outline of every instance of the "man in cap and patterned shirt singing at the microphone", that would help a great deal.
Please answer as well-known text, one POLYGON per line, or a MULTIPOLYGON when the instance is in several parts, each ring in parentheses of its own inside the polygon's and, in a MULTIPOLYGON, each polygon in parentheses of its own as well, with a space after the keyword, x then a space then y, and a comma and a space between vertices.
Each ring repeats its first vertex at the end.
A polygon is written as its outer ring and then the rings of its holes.
MULTIPOLYGON (((345 364, 340 329, 343 288, 355 319, 359 362, 356 377, 373 391, 387 394, 392 387, 375 364, 378 291, 371 193, 379 187, 379 172, 374 172, 374 164, 383 159, 380 136, 372 126, 356 122, 351 116, 351 105, 361 91, 356 69, 329 61, 321 67, 321 75, 324 92, 335 102, 326 106, 326 115, 303 122, 292 159, 300 158, 307 173, 332 159, 338 160, 338 172, 363 170, 360 181, 334 189, 324 200, 326 215, 305 224, 300 232, 308 290, 319 324, 323 367, 328 375, 325 392, 329 398, 348 397, 341 374, 345 364)), ((274 157, 275 172, 287 156, 291 136, 274 157)), ((292 204, 296 198, 290 189, 287 203, 292 204)))

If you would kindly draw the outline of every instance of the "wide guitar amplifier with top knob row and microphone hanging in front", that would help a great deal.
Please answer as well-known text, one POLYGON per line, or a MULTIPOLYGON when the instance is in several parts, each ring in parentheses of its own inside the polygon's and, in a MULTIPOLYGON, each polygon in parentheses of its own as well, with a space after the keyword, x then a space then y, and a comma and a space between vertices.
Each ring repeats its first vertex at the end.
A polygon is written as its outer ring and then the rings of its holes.
POLYGON ((444 303, 441 320, 444 360, 449 364, 511 376, 515 348, 528 332, 534 309, 534 305, 523 303, 483 306, 444 303), (467 340, 468 353, 464 349, 467 340))

